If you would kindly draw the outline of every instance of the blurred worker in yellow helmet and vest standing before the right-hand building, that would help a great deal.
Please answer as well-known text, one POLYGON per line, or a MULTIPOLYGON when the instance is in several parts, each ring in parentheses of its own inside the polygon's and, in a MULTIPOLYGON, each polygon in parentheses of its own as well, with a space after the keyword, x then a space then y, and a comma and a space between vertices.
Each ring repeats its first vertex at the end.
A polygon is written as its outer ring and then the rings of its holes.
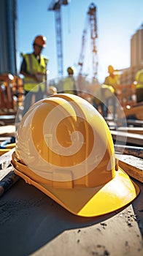
POLYGON ((115 118, 116 115, 116 108, 117 108, 117 101, 115 97, 115 87, 117 84, 120 83, 119 76, 115 74, 115 69, 112 65, 108 66, 109 75, 104 80, 104 85, 102 88, 104 89, 104 98, 105 98, 105 105, 104 105, 104 117, 107 117, 108 108, 111 104, 113 106, 113 117, 115 118))

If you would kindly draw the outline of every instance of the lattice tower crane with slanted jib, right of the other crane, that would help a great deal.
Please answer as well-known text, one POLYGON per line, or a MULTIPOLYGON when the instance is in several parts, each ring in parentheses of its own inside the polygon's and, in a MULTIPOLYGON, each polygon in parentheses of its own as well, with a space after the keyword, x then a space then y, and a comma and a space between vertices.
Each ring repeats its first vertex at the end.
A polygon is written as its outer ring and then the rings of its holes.
POLYGON ((88 34, 88 27, 90 27, 90 40, 91 40, 91 50, 92 50, 92 72, 93 72, 93 78, 97 78, 97 67, 98 67, 98 61, 97 61, 97 47, 96 47, 96 41, 98 38, 97 35, 97 18, 96 18, 96 5, 94 3, 91 3, 87 12, 87 20, 88 25, 86 24, 85 29, 82 32, 82 48, 80 51, 80 58, 78 64, 80 65, 80 73, 79 75, 82 75, 82 69, 83 64, 85 60, 85 46, 87 42, 87 34, 88 34))

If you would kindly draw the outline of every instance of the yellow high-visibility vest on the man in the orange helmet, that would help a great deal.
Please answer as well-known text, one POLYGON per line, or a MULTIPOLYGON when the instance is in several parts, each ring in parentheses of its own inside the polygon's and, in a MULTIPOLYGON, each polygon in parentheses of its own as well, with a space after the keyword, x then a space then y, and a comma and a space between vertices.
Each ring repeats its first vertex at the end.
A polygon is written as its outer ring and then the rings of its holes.
POLYGON ((38 62, 33 53, 23 54, 23 58, 26 61, 27 72, 31 75, 36 75, 37 72, 43 73, 40 75, 39 83, 37 83, 34 78, 23 78, 23 87, 26 91, 37 92, 41 88, 45 91, 45 80, 46 80, 46 69, 47 61, 43 56, 40 56, 40 61, 38 62))

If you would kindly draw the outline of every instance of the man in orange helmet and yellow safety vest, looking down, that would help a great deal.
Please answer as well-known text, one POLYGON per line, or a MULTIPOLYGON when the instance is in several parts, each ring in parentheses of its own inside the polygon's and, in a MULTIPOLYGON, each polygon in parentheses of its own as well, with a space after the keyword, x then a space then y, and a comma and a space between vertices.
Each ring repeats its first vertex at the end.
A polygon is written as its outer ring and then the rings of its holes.
POLYGON ((48 59, 41 55, 45 46, 46 37, 42 35, 36 36, 33 43, 34 52, 22 54, 23 61, 20 67, 20 74, 24 76, 23 89, 25 91, 23 115, 30 108, 32 100, 37 102, 46 93, 48 59))

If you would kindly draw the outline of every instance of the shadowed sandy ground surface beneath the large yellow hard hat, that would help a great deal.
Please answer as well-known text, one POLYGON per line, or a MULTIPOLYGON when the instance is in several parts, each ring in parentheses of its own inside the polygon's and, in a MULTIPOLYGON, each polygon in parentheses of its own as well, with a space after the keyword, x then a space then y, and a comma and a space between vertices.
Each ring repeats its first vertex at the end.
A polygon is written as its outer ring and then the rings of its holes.
POLYGON ((88 219, 20 179, 0 199, 1 255, 143 255, 143 184, 136 184, 141 192, 129 206, 88 219))

